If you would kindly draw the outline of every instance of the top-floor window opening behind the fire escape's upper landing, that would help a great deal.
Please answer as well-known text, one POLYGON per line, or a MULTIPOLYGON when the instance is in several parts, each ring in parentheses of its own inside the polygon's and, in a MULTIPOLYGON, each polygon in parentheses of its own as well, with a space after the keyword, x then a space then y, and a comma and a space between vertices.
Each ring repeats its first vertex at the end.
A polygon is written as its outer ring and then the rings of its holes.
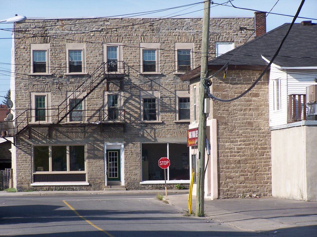
POLYGON ((104 43, 104 62, 108 72, 122 72, 122 43, 104 43))

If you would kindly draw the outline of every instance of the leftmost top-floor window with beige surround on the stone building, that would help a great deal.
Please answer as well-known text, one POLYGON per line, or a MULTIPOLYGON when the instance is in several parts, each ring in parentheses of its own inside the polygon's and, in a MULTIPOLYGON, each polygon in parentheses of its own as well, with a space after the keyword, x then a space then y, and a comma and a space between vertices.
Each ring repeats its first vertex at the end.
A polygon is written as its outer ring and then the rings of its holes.
POLYGON ((49 73, 49 44, 31 44, 30 74, 49 73))

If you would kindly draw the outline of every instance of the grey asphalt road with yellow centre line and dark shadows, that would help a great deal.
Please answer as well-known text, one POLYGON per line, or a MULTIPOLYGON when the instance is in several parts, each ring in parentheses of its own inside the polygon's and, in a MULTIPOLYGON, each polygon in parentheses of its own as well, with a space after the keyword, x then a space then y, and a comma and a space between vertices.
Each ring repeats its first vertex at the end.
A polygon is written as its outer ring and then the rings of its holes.
POLYGON ((268 236, 186 213, 154 194, 0 197, 0 236, 268 236))

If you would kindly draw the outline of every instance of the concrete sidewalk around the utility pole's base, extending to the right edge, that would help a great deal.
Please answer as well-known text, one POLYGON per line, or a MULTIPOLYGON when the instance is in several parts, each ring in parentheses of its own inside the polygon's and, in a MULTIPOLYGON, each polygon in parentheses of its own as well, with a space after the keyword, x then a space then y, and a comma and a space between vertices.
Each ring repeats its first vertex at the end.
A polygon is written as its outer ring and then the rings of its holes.
MULTIPOLYGON (((170 204, 188 211, 188 194, 168 194, 170 204)), ((192 196, 192 211, 196 196, 192 196)), ((275 236, 317 236, 317 202, 274 197, 204 201, 204 219, 227 223, 244 231, 275 236)))

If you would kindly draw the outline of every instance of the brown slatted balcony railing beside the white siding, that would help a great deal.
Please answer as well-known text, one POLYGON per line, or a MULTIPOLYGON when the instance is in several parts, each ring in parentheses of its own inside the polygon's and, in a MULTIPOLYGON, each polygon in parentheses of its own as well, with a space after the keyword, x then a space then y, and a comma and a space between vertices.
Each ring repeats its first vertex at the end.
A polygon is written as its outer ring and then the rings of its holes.
POLYGON ((306 94, 288 95, 287 122, 306 120, 306 94))

